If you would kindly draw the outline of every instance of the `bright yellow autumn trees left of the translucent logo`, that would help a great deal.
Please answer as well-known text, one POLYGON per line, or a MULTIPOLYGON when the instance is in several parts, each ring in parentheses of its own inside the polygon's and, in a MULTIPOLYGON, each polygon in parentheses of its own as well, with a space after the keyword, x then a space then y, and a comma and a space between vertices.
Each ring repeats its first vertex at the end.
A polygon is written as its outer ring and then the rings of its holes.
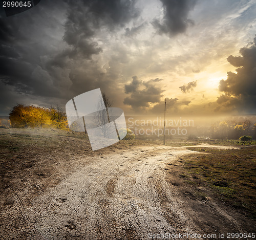
POLYGON ((66 113, 59 107, 50 108, 17 104, 9 114, 11 127, 68 129, 66 113))

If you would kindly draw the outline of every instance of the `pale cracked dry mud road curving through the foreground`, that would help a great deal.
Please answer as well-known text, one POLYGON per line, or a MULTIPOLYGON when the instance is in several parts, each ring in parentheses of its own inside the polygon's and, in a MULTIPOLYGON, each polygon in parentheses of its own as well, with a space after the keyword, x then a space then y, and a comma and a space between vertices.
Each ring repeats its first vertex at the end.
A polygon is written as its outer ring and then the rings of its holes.
POLYGON ((149 233, 246 230, 234 212, 184 197, 168 182, 167 164, 170 169, 191 152, 159 145, 117 150, 87 157, 30 204, 26 192, 13 190, 13 204, 0 214, 0 238, 149 239, 149 233))

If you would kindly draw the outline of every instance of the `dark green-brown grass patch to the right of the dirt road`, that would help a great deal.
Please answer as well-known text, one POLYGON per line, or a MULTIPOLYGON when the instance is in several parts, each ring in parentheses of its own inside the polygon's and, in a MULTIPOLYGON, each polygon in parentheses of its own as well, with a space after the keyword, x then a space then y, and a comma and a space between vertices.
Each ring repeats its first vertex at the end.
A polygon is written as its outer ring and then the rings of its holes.
POLYGON ((194 150, 207 154, 183 157, 189 184, 206 186, 217 199, 256 219, 256 147, 194 150))

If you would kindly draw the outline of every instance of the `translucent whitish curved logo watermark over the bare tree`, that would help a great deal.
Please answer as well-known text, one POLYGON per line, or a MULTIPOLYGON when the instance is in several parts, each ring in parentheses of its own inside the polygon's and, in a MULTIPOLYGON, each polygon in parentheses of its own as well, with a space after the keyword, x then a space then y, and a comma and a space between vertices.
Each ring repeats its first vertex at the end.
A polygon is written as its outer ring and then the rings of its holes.
POLYGON ((69 100, 66 114, 71 130, 87 132, 93 151, 110 146, 127 134, 123 111, 117 107, 106 107, 100 89, 69 100))

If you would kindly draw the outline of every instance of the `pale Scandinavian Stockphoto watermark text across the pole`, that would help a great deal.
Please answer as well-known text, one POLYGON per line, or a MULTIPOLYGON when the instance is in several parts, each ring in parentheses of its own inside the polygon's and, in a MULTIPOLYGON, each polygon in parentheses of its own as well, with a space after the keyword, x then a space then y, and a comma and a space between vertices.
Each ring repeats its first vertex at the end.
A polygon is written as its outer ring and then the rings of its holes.
POLYGON ((165 135, 168 136, 186 136, 187 128, 194 127, 193 119, 162 119, 157 117, 156 119, 135 119, 133 117, 128 119, 128 128, 135 134, 141 136, 155 135, 157 137, 165 135), (164 124, 165 122, 165 124, 164 124), (165 125, 165 129, 163 126, 165 125))

